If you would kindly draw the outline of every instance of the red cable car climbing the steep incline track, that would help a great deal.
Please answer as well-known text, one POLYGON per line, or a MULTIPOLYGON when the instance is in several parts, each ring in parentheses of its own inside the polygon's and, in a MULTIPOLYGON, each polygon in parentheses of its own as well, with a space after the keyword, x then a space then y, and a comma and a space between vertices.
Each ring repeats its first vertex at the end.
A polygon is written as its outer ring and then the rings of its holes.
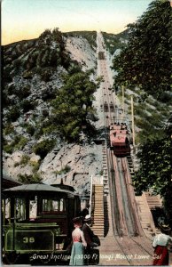
POLYGON ((117 157, 126 157, 130 154, 129 132, 126 125, 110 125, 110 148, 117 157))

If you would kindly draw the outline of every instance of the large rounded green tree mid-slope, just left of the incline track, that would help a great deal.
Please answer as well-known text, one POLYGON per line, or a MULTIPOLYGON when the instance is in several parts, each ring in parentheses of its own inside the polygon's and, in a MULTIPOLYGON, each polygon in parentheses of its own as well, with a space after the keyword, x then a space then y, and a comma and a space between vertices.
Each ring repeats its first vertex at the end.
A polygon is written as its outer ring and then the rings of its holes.
POLYGON ((100 81, 97 84, 91 82, 90 73, 80 71, 64 75, 64 85, 59 89, 56 99, 51 101, 54 122, 59 126, 61 137, 69 142, 79 140, 88 110, 93 110, 93 93, 100 81))

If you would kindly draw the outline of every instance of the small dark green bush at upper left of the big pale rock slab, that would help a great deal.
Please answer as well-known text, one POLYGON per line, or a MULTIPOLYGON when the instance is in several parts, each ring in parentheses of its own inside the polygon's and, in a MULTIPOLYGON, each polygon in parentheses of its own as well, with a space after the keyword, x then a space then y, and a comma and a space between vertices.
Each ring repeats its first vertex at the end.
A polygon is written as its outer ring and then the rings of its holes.
POLYGON ((42 159, 50 152, 55 145, 54 140, 43 140, 42 142, 38 142, 33 147, 33 151, 36 155, 39 155, 42 159))

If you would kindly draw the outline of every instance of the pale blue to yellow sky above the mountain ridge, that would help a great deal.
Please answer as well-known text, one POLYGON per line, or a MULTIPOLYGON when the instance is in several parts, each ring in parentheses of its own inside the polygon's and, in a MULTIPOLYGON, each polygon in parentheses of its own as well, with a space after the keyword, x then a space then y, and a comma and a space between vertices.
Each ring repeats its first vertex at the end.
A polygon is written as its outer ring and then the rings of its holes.
POLYGON ((60 31, 119 33, 138 19, 152 0, 1 0, 2 44, 60 31))

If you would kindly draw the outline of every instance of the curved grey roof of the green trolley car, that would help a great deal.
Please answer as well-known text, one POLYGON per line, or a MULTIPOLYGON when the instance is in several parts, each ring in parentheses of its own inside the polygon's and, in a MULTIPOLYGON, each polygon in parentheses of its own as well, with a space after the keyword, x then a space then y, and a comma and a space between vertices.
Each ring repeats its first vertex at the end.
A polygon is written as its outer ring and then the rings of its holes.
POLYGON ((42 192, 50 192, 50 193, 66 193, 69 196, 75 196, 76 194, 72 191, 69 190, 61 190, 60 188, 53 187, 48 184, 43 184, 43 183, 31 183, 31 184, 23 184, 20 186, 15 186, 10 189, 3 190, 4 193, 25 193, 25 192, 37 192, 37 193, 42 193, 42 192))

